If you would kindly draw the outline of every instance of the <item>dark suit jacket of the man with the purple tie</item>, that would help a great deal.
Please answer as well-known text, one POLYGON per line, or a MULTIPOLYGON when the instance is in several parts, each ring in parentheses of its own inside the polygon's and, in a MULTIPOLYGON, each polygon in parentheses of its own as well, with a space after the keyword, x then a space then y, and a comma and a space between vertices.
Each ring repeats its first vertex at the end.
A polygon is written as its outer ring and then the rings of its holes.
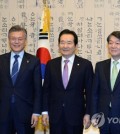
POLYGON ((56 123, 64 107, 66 120, 72 125, 79 125, 83 122, 83 115, 89 114, 90 110, 92 64, 86 59, 75 56, 69 83, 65 90, 62 82, 61 59, 61 57, 55 58, 46 66, 43 111, 48 111, 50 122, 56 123))

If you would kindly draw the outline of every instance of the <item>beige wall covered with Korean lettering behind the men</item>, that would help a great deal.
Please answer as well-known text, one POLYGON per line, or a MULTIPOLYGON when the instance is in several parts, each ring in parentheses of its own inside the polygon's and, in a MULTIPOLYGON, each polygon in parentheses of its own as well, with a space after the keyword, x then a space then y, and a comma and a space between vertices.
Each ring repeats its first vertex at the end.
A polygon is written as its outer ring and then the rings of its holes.
MULTIPOLYGON (((48 0, 51 10, 50 47, 52 57, 59 56, 57 39, 64 28, 79 36, 78 55, 92 61, 108 58, 106 37, 120 29, 118 0, 48 0)), ((0 54, 9 51, 7 33, 12 25, 24 25, 28 31, 26 50, 36 53, 42 0, 0 1, 0 54)))

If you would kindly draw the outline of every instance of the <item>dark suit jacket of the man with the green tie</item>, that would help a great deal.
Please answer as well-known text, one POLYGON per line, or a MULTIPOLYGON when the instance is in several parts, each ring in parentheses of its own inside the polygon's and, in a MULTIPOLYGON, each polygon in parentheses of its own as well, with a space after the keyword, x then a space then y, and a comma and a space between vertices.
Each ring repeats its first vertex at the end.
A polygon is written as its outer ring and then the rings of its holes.
POLYGON ((96 64, 92 90, 92 115, 103 112, 105 116, 108 116, 111 102, 112 114, 120 117, 120 72, 112 91, 110 84, 110 64, 110 59, 96 64))

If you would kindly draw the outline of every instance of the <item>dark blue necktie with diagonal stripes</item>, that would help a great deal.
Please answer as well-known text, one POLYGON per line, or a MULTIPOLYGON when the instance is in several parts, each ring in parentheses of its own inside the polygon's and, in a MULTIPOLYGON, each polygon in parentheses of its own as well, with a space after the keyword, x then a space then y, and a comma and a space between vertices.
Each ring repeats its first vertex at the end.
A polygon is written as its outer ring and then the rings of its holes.
POLYGON ((19 55, 14 56, 15 61, 13 63, 13 67, 12 67, 11 78, 12 78, 13 85, 15 84, 15 81, 16 81, 17 75, 18 75, 18 57, 19 57, 19 55))

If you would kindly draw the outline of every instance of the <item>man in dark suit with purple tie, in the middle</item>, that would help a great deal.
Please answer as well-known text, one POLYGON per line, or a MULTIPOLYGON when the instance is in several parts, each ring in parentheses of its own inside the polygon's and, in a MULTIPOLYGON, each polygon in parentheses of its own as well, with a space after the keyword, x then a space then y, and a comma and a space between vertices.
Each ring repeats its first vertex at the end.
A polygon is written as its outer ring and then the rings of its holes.
POLYGON ((58 42, 62 56, 49 61, 46 66, 43 124, 49 121, 50 134, 82 134, 83 118, 84 125, 89 122, 92 64, 75 55, 78 37, 74 31, 63 30, 58 42), (68 72, 64 79, 66 60, 68 72))

